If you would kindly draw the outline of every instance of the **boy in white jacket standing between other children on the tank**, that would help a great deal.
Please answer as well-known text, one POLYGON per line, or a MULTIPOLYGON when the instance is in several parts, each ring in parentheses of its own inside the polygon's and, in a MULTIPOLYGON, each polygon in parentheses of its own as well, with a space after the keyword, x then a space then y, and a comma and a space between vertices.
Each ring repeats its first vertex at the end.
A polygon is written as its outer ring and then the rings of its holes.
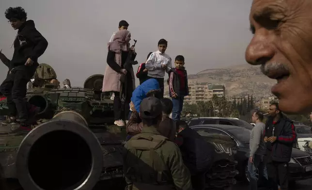
POLYGON ((158 51, 151 54, 145 63, 148 70, 149 79, 156 79, 162 93, 161 99, 164 97, 164 77, 165 71, 168 72, 172 67, 171 57, 165 53, 168 42, 165 39, 158 41, 158 51))

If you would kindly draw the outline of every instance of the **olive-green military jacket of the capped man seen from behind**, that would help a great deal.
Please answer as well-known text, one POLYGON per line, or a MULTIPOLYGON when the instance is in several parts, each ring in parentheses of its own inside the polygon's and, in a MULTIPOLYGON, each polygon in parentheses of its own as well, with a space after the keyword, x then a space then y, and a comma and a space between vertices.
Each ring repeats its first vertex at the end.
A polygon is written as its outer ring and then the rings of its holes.
POLYGON ((128 190, 192 190, 179 147, 155 127, 143 127, 123 153, 128 190))

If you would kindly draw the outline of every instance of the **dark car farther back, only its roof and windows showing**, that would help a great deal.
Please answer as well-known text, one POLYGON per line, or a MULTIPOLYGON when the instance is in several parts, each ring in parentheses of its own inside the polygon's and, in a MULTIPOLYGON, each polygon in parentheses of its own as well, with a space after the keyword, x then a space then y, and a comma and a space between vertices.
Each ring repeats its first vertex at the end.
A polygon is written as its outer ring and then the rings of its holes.
POLYGON ((253 126, 241 119, 230 118, 230 117, 197 117, 192 118, 188 121, 188 126, 198 126, 198 125, 229 125, 229 126, 239 126, 252 129, 253 126))

